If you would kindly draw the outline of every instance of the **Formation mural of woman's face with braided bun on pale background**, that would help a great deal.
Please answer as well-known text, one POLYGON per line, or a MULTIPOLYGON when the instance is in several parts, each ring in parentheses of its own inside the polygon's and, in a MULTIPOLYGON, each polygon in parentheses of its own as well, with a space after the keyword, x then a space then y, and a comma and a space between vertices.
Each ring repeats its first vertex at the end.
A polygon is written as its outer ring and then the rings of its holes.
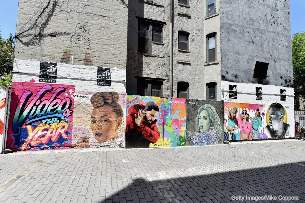
POLYGON ((73 146, 123 147, 124 93, 77 92, 74 99, 73 146))

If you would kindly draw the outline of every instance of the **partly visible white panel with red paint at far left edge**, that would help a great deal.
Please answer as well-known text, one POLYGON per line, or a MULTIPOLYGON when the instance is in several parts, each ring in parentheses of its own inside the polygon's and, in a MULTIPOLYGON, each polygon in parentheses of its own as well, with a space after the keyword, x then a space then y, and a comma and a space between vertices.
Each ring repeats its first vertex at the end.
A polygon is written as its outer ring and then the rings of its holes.
POLYGON ((4 149, 4 140, 5 140, 7 96, 8 96, 8 88, 0 87, 0 147, 1 147, 1 153, 2 153, 2 150, 4 149))

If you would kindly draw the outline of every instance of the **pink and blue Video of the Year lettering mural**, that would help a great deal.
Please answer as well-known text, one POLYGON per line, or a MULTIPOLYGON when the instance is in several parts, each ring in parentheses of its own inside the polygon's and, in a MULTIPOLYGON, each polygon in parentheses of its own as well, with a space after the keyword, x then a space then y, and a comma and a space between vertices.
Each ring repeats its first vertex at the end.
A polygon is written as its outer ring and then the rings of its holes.
POLYGON ((13 82, 7 148, 72 147, 74 92, 72 85, 13 82))

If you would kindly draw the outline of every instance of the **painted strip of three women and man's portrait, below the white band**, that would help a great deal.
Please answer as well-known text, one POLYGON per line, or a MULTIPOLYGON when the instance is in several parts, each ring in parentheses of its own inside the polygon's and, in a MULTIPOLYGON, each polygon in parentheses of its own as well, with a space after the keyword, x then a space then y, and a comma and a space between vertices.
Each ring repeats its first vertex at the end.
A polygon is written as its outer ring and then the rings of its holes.
POLYGON ((279 103, 265 105, 224 102, 224 140, 291 137, 287 118, 286 109, 279 103))

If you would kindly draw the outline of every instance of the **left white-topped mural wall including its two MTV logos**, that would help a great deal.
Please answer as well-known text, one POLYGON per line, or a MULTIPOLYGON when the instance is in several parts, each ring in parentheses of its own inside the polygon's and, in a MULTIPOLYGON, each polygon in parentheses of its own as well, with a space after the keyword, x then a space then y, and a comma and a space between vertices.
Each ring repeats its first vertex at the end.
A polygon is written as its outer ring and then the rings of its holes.
POLYGON ((123 147, 126 69, 16 59, 14 70, 7 148, 123 147))

